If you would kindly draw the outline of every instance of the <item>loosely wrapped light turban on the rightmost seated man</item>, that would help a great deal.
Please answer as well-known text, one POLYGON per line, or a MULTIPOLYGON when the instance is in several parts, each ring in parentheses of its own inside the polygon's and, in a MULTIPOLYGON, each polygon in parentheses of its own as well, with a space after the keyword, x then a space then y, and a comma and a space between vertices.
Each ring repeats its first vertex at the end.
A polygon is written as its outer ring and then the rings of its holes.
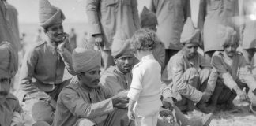
POLYGON ((235 40, 235 43, 239 44, 238 38, 236 37, 236 31, 234 28, 219 25, 217 29, 217 36, 220 39, 220 46, 224 46, 235 40))

